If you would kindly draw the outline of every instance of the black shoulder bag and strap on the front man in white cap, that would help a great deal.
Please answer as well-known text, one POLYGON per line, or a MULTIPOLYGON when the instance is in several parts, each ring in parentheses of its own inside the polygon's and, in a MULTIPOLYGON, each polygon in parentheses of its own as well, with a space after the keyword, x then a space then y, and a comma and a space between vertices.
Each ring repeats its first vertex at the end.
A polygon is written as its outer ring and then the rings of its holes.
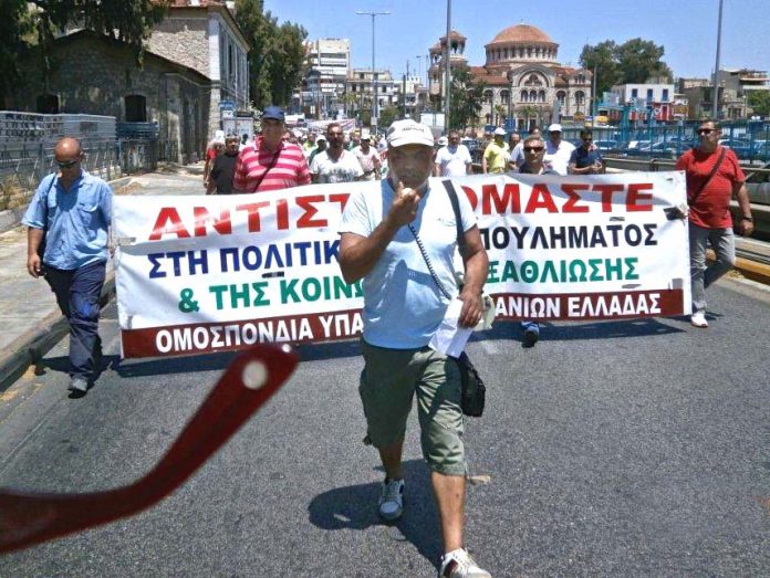
MULTIPOLYGON (((455 211, 455 222, 457 223, 457 246, 460 251, 460 255, 465 256, 466 244, 462 235, 462 220, 460 218, 460 206, 459 201, 457 200, 457 192, 455 191, 455 188, 452 187, 449 180, 444 181, 444 187, 447 189, 447 192, 449 193, 451 208, 455 211)), ((425 250, 425 246, 423 245, 423 241, 420 241, 419 237, 417 235, 417 231, 412 225, 412 223, 408 224, 408 228, 409 231, 412 231, 415 241, 417 242, 417 248, 419 249, 419 252, 423 255, 423 259, 425 260, 425 264, 428 267, 430 276, 436 283, 436 286, 447 299, 451 301, 451 295, 449 295, 447 290, 444 287, 444 284, 439 281, 438 275, 436 275, 436 271, 434 270, 433 264, 428 259, 428 253, 425 250)), ((487 387, 483 385, 483 381, 481 380, 481 377, 479 376, 479 372, 477 371, 476 367, 470 361, 468 354, 462 351, 460 354, 460 357, 455 359, 455 361, 457 361, 457 367, 460 370, 460 382, 462 387, 462 398, 460 400, 460 407, 462 408, 462 413, 472 418, 479 418, 483 413, 483 406, 487 397, 487 387)))

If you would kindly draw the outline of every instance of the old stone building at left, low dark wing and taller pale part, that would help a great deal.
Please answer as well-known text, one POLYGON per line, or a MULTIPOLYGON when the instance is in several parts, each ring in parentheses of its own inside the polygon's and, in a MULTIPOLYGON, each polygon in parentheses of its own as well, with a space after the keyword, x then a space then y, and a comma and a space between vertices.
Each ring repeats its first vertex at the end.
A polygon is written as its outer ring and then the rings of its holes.
POLYGON ((118 123, 150 123, 176 145, 178 161, 201 158, 221 126, 220 103, 249 107, 249 44, 231 2, 174 0, 146 43, 143 65, 124 43, 89 31, 54 42, 49 71, 23 63, 12 106, 39 113, 83 113, 118 123))

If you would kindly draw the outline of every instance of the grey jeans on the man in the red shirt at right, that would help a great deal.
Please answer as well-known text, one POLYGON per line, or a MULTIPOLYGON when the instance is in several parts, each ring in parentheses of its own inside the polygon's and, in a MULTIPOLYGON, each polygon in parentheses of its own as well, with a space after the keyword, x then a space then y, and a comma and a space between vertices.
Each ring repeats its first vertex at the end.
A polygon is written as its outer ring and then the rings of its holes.
POLYGON ((693 284, 693 313, 706 311, 706 287, 730 271, 736 264, 736 238, 732 229, 704 229, 689 223, 690 280, 693 284), (706 266, 706 246, 717 260, 706 266))

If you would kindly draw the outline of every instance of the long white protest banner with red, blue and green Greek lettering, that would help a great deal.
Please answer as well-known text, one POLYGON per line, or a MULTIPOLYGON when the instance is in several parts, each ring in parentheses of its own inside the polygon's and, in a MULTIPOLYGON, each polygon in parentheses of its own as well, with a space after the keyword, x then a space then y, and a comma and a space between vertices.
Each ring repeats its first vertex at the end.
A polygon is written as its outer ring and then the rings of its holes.
MULTIPOLYGON (((499 318, 689 313, 681 172, 478 176, 452 181, 488 249, 499 318)), ((340 273, 350 195, 379 182, 257 195, 114 198, 125 357, 324 341, 362 330, 361 285, 340 273)), ((431 192, 446 195, 440 180, 431 192)))

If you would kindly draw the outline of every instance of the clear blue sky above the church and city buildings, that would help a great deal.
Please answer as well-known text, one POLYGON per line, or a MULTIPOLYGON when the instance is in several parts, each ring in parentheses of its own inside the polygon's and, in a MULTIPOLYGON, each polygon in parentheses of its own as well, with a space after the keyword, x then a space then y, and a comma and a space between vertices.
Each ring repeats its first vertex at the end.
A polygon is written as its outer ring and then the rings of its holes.
MULTIPOLYGON (((721 67, 770 70, 770 0, 724 0, 721 67)), ((347 38, 353 66, 372 65, 372 19, 376 17, 376 67, 400 76, 425 75, 428 49, 446 32, 446 0, 264 0, 279 22, 302 24, 309 39, 347 38)), ((719 0, 452 0, 452 28, 468 36, 471 65, 485 62, 483 45, 501 30, 524 22, 559 44, 559 61, 578 65, 583 45, 622 43, 641 36, 663 44, 676 76, 708 76, 715 64, 719 0)))

